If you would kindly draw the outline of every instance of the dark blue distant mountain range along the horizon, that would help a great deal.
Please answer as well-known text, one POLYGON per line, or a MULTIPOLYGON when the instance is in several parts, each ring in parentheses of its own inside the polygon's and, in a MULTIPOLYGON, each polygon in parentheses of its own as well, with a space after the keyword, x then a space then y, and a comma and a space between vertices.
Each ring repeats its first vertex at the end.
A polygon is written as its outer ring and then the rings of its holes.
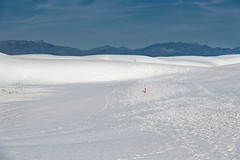
POLYGON ((99 48, 80 50, 77 48, 56 46, 43 40, 7 40, 0 41, 0 52, 9 55, 20 54, 51 54, 61 56, 85 56, 97 54, 122 54, 122 55, 146 55, 146 56, 217 56, 226 54, 240 54, 240 47, 212 48, 208 45, 184 42, 168 42, 153 44, 144 48, 129 49, 126 47, 103 46, 99 48))

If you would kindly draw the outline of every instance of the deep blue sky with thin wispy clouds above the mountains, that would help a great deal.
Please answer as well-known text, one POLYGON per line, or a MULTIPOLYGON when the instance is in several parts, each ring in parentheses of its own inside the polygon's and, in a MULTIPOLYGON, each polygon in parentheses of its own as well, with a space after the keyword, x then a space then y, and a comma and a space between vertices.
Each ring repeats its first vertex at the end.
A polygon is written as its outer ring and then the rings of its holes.
POLYGON ((240 46, 240 0, 0 0, 0 40, 89 49, 169 41, 240 46))

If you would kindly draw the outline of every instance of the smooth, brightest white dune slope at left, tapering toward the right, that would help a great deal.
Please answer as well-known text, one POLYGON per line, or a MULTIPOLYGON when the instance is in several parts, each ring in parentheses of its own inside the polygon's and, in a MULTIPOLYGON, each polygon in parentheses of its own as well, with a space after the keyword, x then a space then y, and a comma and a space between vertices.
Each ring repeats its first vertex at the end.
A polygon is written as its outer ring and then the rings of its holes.
MULTIPOLYGON (((119 81, 184 72, 184 67, 130 62, 130 57, 0 56, 0 82, 57 84, 119 81), (114 59, 115 58, 115 59, 114 59)), ((133 57, 133 56, 132 56, 133 57)), ((137 56, 136 56, 137 57, 137 56)), ((140 59, 140 57, 139 57, 140 59)), ((141 57, 143 59, 143 57, 141 57)), ((146 59, 151 59, 146 57, 146 59)))

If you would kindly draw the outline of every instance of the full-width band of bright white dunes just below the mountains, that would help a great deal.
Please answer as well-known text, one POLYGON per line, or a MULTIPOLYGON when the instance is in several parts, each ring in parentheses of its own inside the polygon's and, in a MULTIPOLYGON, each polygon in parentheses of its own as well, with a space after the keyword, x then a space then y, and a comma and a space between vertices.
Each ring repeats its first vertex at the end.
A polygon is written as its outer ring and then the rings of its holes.
POLYGON ((136 55, 8 56, 0 53, 0 83, 59 84, 120 81, 187 72, 194 67, 236 63, 240 63, 240 55, 152 58, 136 55))

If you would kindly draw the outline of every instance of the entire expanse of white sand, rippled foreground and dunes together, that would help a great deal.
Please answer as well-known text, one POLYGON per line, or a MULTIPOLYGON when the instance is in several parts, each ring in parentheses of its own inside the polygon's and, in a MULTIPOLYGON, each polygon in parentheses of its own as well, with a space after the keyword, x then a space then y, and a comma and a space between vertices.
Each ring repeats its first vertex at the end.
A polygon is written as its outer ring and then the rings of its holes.
POLYGON ((238 160, 239 62, 0 54, 0 160, 238 160))

